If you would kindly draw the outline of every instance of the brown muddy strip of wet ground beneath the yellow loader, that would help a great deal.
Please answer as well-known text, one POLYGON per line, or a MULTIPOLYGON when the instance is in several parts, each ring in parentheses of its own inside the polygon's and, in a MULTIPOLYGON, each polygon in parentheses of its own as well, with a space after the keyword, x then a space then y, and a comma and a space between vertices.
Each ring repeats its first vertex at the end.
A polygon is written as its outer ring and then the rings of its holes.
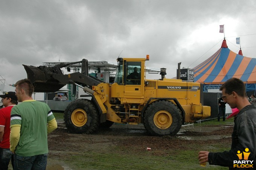
MULTIPOLYGON (((119 145, 123 149, 134 148, 145 150, 150 147, 153 155, 165 156, 168 149, 191 149, 191 141, 195 144, 231 143, 233 124, 213 126, 184 126, 175 137, 155 137, 147 134, 143 126, 114 124, 110 129, 100 130, 95 134, 71 134, 62 121, 58 128, 49 134, 48 170, 76 169, 65 162, 71 155, 90 150, 107 151, 108 146, 119 145), (183 143, 180 145, 180 143, 183 143), (187 143, 187 144, 186 144, 187 143), (187 148, 186 148, 187 147, 187 148)), ((72 160, 70 160, 72 161, 72 160)))

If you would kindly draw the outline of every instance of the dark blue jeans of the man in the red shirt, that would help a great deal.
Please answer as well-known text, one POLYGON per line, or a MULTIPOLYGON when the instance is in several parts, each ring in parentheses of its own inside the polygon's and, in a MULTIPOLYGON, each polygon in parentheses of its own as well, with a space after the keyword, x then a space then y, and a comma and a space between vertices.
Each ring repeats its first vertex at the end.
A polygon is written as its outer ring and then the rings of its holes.
POLYGON ((12 168, 13 168, 13 154, 10 149, 0 148, 0 169, 8 170, 8 165, 10 160, 12 160, 12 168))

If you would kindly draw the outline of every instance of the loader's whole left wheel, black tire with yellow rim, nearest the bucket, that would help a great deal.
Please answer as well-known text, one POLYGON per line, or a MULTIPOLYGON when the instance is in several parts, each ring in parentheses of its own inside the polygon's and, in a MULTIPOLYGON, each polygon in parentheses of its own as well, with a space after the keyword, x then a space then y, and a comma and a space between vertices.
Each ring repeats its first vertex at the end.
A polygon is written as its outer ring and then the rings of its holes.
POLYGON ((99 111, 91 100, 78 99, 64 111, 64 122, 70 132, 90 134, 99 129, 99 111))

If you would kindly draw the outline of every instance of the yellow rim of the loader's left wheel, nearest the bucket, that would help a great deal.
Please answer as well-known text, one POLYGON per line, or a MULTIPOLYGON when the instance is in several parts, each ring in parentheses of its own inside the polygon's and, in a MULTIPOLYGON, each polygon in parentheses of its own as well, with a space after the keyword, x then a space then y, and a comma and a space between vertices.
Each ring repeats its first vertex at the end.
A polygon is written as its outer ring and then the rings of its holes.
POLYGON ((75 109, 71 114, 71 121, 75 126, 82 127, 87 122, 87 113, 83 109, 75 109))

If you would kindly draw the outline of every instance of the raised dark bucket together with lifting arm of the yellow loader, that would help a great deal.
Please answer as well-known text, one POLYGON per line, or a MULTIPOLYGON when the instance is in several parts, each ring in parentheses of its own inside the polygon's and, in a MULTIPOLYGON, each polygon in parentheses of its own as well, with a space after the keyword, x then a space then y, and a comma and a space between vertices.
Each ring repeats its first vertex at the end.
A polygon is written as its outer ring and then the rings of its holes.
POLYGON ((88 74, 88 61, 82 59, 78 62, 60 63, 55 66, 28 66, 24 65, 27 78, 35 87, 35 92, 53 93, 66 84, 79 84, 82 86, 93 86, 103 82, 88 74), (61 69, 71 64, 82 63, 81 73, 63 74, 61 69))

